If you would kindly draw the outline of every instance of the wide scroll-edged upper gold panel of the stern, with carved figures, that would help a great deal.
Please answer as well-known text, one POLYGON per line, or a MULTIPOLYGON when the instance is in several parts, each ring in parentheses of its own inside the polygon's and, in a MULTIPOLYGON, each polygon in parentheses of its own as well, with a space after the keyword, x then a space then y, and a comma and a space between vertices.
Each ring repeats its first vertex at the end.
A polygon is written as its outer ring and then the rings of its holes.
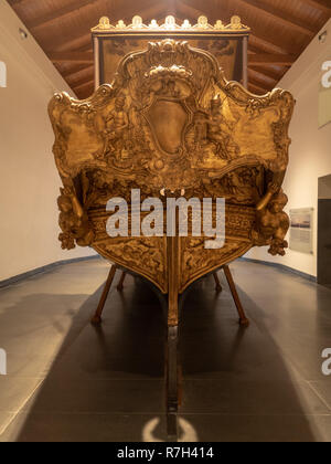
POLYGON ((285 170, 292 105, 290 94, 279 89, 254 97, 227 83, 206 52, 166 40, 125 59, 111 86, 83 103, 60 94, 50 112, 53 119, 58 116, 54 149, 61 172, 72 176, 93 166, 131 176, 135 168, 135 177, 139 171, 156 189, 174 190, 252 160, 285 170), (151 124, 148 115, 156 107, 159 117, 151 124), (174 159, 161 149, 169 135, 161 115, 175 107, 188 124, 174 159))

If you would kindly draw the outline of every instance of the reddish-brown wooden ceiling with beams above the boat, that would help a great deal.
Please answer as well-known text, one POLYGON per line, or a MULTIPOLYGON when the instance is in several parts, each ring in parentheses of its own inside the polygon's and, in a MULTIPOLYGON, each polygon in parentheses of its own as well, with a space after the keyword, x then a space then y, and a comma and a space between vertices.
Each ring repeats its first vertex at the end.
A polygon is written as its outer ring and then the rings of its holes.
POLYGON ((234 14, 252 28, 249 89, 273 89, 331 17, 331 0, 8 0, 79 98, 94 89, 90 28, 103 15, 111 23, 178 20, 229 22, 234 14))

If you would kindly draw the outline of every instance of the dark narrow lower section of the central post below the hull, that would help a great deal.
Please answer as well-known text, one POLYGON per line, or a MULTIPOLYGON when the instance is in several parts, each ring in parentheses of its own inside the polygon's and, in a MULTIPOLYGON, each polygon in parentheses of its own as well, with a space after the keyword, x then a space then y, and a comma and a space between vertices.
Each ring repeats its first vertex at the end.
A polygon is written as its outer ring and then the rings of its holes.
POLYGON ((167 431, 169 440, 178 440, 178 326, 168 327, 167 431))

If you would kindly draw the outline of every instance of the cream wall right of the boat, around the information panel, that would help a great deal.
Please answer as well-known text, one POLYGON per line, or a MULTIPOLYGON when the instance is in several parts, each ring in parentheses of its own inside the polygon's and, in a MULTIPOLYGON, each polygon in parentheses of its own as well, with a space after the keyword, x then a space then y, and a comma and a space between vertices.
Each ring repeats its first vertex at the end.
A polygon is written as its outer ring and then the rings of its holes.
POLYGON ((313 255, 287 251, 285 257, 273 257, 267 249, 254 249, 247 257, 281 263, 306 274, 317 275, 318 178, 331 175, 331 124, 318 128, 319 85, 322 63, 331 60, 331 20, 327 42, 316 36, 302 55, 277 85, 290 91, 297 99, 290 126, 290 162, 284 190, 289 197, 287 211, 295 208, 314 209, 313 255))

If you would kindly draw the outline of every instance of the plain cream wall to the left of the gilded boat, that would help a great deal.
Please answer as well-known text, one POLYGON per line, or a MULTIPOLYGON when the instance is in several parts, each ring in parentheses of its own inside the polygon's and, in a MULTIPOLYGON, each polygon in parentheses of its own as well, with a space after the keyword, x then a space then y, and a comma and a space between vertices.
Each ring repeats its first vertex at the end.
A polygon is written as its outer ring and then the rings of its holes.
POLYGON ((26 30, 0 0, 0 62, 8 74, 7 87, 0 86, 0 281, 94 253, 62 251, 57 241, 61 180, 47 103, 54 92, 71 89, 34 39, 21 39, 19 28, 26 30))

